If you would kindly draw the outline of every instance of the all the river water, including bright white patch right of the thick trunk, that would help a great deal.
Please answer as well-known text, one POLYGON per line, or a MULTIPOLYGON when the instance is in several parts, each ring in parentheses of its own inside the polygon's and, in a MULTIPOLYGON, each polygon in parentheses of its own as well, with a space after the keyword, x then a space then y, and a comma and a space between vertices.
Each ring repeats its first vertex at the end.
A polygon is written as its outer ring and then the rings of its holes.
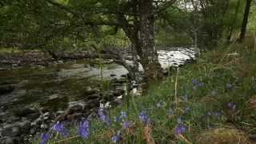
MULTIPOLYGON (((160 50, 158 54, 163 68, 182 65, 194 57, 193 51, 183 49, 160 50)), ((103 77, 106 80, 122 78, 127 73, 123 66, 114 63, 104 64, 103 67, 103 77)), ((14 84, 15 89, 9 94, 0 94, 2 121, 8 120, 10 112, 34 103, 50 110, 64 110, 70 103, 85 98, 88 88, 99 88, 101 85, 98 64, 86 60, 42 68, 0 70, 0 85, 3 83, 14 84)))

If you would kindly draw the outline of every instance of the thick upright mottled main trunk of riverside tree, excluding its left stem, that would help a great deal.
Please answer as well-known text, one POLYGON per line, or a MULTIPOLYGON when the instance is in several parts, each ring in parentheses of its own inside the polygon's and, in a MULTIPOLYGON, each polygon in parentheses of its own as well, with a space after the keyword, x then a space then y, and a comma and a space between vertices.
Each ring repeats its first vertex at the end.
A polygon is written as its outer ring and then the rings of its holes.
POLYGON ((158 62, 158 53, 154 48, 154 0, 140 1, 140 26, 138 37, 142 54, 140 62, 143 66, 147 81, 155 81, 162 78, 162 69, 158 62))

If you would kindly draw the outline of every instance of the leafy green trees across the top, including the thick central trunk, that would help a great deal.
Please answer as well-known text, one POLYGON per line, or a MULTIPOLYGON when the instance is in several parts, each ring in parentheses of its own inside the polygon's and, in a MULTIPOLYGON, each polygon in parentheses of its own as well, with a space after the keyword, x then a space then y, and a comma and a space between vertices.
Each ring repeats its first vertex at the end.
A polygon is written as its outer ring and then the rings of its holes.
POLYGON ((162 74, 156 34, 182 35, 194 46, 213 48, 230 41, 248 5, 241 0, 6 0, 0 2, 0 44, 74 49, 123 34, 139 56, 134 62, 142 63, 147 78, 157 79, 162 74))

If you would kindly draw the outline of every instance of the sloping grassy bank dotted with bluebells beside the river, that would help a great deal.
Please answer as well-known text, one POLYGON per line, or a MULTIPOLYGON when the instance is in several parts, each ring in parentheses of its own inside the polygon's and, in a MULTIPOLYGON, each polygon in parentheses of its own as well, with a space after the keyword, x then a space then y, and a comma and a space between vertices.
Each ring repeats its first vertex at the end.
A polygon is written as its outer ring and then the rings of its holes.
POLYGON ((122 106, 105 110, 106 117, 90 119, 89 138, 78 137, 78 126, 71 126, 67 138, 54 133, 50 143, 251 142, 256 134, 256 47, 247 41, 206 52, 147 94, 129 96, 122 106))

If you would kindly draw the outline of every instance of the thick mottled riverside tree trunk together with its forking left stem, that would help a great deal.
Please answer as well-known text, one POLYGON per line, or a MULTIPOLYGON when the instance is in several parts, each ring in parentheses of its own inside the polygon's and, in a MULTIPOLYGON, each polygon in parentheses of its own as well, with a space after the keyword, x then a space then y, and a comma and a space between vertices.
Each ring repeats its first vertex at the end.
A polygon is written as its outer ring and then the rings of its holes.
POLYGON ((135 16, 133 24, 130 24, 124 14, 118 14, 118 22, 122 24, 122 29, 132 42, 133 55, 138 55, 140 59, 134 57, 134 62, 142 64, 146 81, 156 81, 162 78, 162 68, 158 62, 158 53, 154 49, 154 0, 134 0, 135 16))

